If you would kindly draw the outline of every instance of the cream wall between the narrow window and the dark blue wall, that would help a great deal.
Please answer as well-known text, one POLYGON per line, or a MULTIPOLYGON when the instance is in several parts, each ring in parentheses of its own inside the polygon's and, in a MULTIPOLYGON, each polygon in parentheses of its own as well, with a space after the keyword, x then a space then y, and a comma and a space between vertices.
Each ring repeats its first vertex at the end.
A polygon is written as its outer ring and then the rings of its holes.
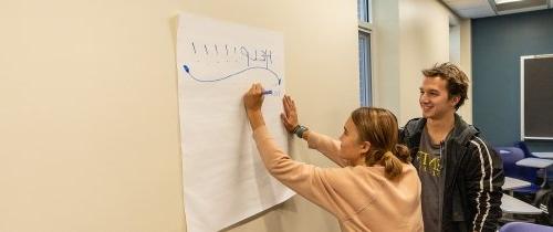
MULTIPOLYGON (((420 71, 449 61, 449 19, 457 19, 435 0, 374 0, 375 33, 375 105, 394 110, 399 124, 420 117, 418 87, 420 71), (392 19, 390 19, 392 18, 392 19)), ((460 19, 457 19, 460 20, 460 19)), ((470 23, 470 22, 469 22, 470 23)), ((461 29, 461 68, 470 66, 470 28, 461 29), (468 34, 468 35, 467 35, 468 34), (463 43, 465 41, 465 43, 463 43)), ((459 112, 470 117, 470 102, 459 112)), ((471 117, 470 117, 471 118, 471 117)), ((470 120, 469 120, 470 122, 470 120)))

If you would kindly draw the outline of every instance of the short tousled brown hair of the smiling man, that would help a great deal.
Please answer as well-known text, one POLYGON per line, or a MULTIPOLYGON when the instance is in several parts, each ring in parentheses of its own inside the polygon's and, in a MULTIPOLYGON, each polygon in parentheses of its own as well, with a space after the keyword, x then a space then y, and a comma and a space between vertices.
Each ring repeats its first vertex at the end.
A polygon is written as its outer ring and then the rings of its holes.
POLYGON ((468 98, 467 92, 469 88, 469 77, 458 66, 449 62, 435 64, 434 67, 422 70, 422 75, 426 77, 440 77, 447 82, 448 97, 459 96, 459 103, 455 105, 456 109, 465 104, 468 98))

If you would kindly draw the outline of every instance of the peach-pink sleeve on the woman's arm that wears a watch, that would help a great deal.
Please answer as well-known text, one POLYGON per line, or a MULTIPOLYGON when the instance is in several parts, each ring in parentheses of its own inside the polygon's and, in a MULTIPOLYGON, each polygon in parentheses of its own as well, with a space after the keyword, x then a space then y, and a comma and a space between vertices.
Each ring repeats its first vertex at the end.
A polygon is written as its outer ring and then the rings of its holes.
POLYGON ((340 140, 333 139, 328 136, 310 131, 307 145, 311 149, 316 149, 326 156, 332 161, 336 162, 340 167, 348 166, 347 160, 340 158, 340 140))

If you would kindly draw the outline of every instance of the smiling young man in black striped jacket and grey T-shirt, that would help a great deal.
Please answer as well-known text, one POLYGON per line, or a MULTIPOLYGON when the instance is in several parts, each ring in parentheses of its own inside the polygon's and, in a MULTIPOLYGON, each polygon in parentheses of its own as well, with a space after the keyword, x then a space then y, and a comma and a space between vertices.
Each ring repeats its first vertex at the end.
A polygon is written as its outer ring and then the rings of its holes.
POLYGON ((425 231, 495 231, 501 218, 501 158, 456 114, 468 77, 451 63, 424 70, 422 118, 401 128, 422 183, 425 231))

